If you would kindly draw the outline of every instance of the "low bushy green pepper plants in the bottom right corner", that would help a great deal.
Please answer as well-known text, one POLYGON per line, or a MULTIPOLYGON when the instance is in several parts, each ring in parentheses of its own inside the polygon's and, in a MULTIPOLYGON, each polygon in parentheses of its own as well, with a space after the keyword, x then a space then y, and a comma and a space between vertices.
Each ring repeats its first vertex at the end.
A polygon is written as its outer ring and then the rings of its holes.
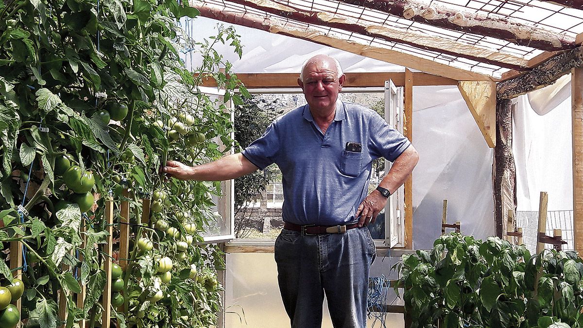
MULTIPOLYGON (((581 327, 583 261, 450 233, 396 266, 412 327, 581 327)), ((398 291, 397 288, 395 288, 398 291)))

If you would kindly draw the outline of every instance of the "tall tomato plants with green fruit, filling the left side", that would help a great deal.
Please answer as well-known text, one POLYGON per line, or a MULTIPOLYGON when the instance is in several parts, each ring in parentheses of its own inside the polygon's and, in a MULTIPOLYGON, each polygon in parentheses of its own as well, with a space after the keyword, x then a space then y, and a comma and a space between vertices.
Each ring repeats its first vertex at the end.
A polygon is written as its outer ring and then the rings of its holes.
POLYGON ((240 55, 236 33, 220 28, 213 39, 192 40, 179 22, 196 15, 175 0, 0 1, 0 242, 25 246, 25 325, 101 324, 109 198, 132 208, 132 252, 119 259, 128 267, 113 297, 118 326, 215 323, 224 263, 201 232, 216 220, 219 184, 165 182, 159 173, 167 159, 192 165, 228 151, 226 102, 241 102, 235 88, 246 94, 213 50, 228 41, 240 55), (180 60, 184 49, 203 57, 195 74, 180 60), (226 90, 223 99, 199 92, 206 76, 226 90), (147 224, 141 198, 153 198, 147 224), (87 287, 80 308, 79 284, 87 287), (57 315, 60 290, 66 320, 57 315))

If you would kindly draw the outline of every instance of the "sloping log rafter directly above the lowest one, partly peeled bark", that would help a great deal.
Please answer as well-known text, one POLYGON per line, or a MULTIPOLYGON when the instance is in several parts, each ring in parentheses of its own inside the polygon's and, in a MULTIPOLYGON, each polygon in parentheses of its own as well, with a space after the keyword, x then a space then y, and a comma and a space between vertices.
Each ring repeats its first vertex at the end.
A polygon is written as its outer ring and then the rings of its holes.
POLYGON ((468 58, 469 60, 484 62, 491 65, 525 71, 528 61, 524 58, 510 54, 480 48, 467 43, 461 43, 442 37, 429 36, 427 34, 392 29, 391 27, 366 24, 344 15, 330 12, 306 11, 293 6, 279 4, 269 0, 230 0, 236 4, 249 6, 286 19, 299 22, 334 27, 379 39, 408 44, 423 50, 468 58))

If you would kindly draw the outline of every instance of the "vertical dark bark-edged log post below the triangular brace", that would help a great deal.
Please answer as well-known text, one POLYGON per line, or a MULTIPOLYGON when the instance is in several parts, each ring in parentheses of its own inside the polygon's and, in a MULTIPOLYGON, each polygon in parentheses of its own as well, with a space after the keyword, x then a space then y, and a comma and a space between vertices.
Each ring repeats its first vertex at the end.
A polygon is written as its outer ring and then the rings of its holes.
POLYGON ((494 229, 496 236, 506 233, 508 210, 516 209, 516 168, 512 155, 512 104, 496 103, 496 147, 494 147, 494 229))

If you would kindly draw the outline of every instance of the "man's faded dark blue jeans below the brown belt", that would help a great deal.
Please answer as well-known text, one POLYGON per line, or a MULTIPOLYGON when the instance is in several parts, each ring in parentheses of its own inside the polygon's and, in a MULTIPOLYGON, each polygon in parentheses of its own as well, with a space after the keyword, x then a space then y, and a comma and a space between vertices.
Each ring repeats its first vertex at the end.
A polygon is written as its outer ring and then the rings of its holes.
POLYGON ((321 327, 325 294, 335 328, 366 328, 368 274, 375 256, 366 227, 322 235, 283 229, 275 240, 275 261, 291 327, 321 327))

